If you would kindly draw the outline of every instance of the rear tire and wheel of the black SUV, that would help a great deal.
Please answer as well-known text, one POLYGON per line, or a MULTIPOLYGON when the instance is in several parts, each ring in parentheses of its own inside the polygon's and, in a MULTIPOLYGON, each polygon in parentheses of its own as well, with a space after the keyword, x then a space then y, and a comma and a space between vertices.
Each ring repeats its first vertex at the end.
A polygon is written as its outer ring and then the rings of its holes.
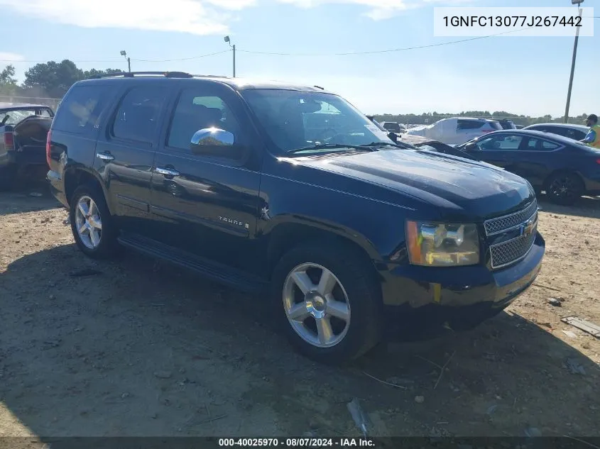
POLYGON ((73 238, 82 253, 93 259, 107 259, 116 255, 119 249, 116 242, 117 229, 99 187, 86 184, 75 189, 70 201, 69 220, 73 238), (84 209, 87 205, 89 211, 90 200, 95 206, 91 208, 92 216, 86 218, 83 215, 84 210, 80 209, 80 204, 84 209), (87 226, 87 231, 80 234, 77 228, 82 226, 87 226), (92 237, 90 228, 95 238, 92 237))

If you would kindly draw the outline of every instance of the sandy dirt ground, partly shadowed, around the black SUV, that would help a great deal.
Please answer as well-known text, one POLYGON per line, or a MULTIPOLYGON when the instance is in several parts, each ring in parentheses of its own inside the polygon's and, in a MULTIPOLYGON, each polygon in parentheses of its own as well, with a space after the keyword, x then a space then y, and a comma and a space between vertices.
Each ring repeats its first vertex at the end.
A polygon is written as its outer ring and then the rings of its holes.
POLYGON ((542 199, 541 275, 500 316, 334 368, 294 353, 260 298, 88 260, 38 192, 0 194, 0 436, 359 435, 355 397, 373 436, 600 434, 600 340, 560 321, 600 323, 600 198, 542 199))

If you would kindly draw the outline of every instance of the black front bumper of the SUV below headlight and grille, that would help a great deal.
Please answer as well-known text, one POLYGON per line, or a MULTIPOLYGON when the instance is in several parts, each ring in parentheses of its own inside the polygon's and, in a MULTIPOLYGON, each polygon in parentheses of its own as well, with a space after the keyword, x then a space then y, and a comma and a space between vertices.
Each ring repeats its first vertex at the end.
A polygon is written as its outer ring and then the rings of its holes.
POLYGON ((484 266, 431 268, 400 265, 383 274, 389 336, 422 338, 432 331, 477 326, 511 304, 538 277, 545 253, 540 233, 528 255, 503 270, 484 266), (424 335, 422 335, 424 334, 424 335))

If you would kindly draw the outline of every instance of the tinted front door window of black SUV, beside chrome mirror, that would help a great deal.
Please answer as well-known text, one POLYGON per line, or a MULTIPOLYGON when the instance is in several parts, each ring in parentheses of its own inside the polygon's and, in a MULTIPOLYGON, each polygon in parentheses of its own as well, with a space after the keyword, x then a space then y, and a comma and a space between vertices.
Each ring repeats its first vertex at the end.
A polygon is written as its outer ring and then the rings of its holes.
POLYGON ((190 151, 196 131, 212 127, 233 133, 236 140, 241 136, 236 118, 219 96, 207 95, 194 87, 183 89, 173 113, 167 145, 190 151))

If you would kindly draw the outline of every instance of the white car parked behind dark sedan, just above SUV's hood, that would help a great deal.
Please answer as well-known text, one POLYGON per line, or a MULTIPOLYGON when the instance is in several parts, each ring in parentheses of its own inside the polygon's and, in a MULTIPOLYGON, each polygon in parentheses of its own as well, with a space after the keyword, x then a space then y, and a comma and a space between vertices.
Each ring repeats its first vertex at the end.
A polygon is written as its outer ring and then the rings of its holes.
POLYGON ((452 117, 442 118, 430 126, 409 128, 406 133, 422 135, 432 140, 439 140, 446 145, 461 145, 474 138, 492 131, 500 131, 498 121, 486 118, 452 117))

